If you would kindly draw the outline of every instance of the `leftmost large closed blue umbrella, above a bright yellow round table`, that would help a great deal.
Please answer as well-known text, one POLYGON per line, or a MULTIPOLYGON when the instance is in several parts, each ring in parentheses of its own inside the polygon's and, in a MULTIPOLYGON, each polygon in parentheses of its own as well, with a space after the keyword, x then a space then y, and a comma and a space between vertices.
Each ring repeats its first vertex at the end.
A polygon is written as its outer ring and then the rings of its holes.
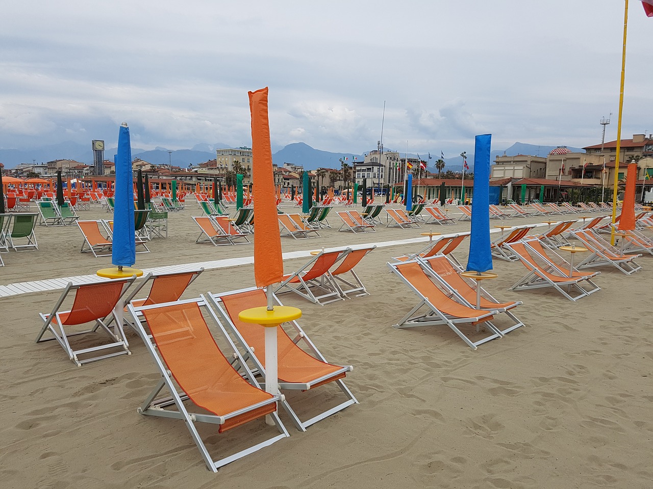
POLYGON ((136 263, 134 236, 134 184, 131 173, 129 127, 122 123, 118 135, 116 185, 114 185, 114 237, 111 263, 116 267, 131 267, 136 263))

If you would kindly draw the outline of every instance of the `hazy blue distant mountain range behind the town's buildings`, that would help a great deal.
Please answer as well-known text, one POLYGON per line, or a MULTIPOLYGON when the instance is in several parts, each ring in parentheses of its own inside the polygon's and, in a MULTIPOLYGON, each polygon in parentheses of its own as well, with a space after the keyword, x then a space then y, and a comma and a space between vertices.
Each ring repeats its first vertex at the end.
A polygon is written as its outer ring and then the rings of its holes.
MULTIPOLYGON (((131 154, 133 158, 140 158, 153 164, 167 164, 172 163, 175 166, 186 168, 189 164, 197 164, 208 160, 215 159, 215 149, 238 147, 231 146, 223 143, 215 144, 197 144, 193 149, 177 149, 174 151, 168 150, 163 147, 157 147, 150 151, 144 149, 132 148, 131 154)), ((278 146, 276 148, 279 148, 278 146)), ((492 160, 496 156, 515 156, 515 155, 534 155, 534 156, 547 156, 552 149, 556 146, 543 146, 528 143, 515 143, 508 149, 503 151, 492 151, 492 160)), ((583 152, 581 148, 569 147, 570 151, 583 152)), ((105 159, 113 159, 116 153, 116 148, 108 148, 104 151, 105 159)), ((404 156, 404 153, 400 153, 404 156)), ((419 155, 422 160, 427 160, 427 155, 419 155)), ((409 158, 417 158, 416 154, 408 153, 409 158)), ((345 160, 352 166, 355 162, 361 162, 364 159, 363 155, 356 155, 353 153, 330 153, 329 151, 321 151, 314 149, 306 143, 292 143, 279 149, 272 155, 272 161, 278 166, 283 166, 284 163, 293 163, 303 165, 306 170, 315 170, 317 168, 340 168, 340 158, 345 160)), ((75 160, 78 162, 91 164, 93 162, 93 151, 91 151, 91 144, 82 145, 68 141, 56 145, 42 146, 30 150, 19 149, 0 149, 0 162, 5 164, 5 168, 14 168, 20 163, 32 162, 48 162, 52 160, 75 160)), ((432 155, 432 159, 428 160, 428 168, 434 171, 434 163, 438 157, 432 155)), ((453 156, 451 158, 444 158, 447 166, 445 170, 462 171, 462 157, 453 156)), ((470 171, 473 171, 474 155, 467 156, 470 171)))

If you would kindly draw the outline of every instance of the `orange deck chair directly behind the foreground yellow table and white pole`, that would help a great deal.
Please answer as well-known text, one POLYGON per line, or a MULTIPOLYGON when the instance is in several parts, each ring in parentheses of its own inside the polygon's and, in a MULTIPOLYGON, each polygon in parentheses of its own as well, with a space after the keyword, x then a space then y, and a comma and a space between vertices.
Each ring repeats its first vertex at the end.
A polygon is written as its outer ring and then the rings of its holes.
MULTIPOLYGON (((236 338, 237 343, 245 351, 243 356, 253 363, 256 371, 263 376, 263 382, 265 382, 265 335, 263 327, 257 324, 244 323, 238 319, 238 314, 242 310, 266 306, 267 299, 264 291, 262 289, 246 289, 219 295, 209 294, 209 301, 221 316, 221 320, 217 322, 223 334, 229 336, 231 333, 236 338)), ((276 304, 281 305, 276 297, 274 297, 274 301, 276 304)), ((347 372, 353 370, 353 366, 328 363, 297 321, 289 321, 287 324, 294 329, 292 338, 283 327, 277 327, 279 387, 283 390, 309 391, 316 387, 335 383, 346 398, 344 402, 325 409, 308 419, 308 421, 301 421, 289 402, 285 399, 282 400, 281 406, 293 419, 296 428, 300 431, 306 431, 306 428, 311 424, 338 413, 352 404, 358 404, 354 395, 343 382, 347 372), (308 351, 300 348, 300 344, 305 346, 308 351)), ((295 396, 295 398, 298 399, 299 403, 298 396, 295 396)), ((320 409, 323 408, 324 406, 320 406, 320 409)))

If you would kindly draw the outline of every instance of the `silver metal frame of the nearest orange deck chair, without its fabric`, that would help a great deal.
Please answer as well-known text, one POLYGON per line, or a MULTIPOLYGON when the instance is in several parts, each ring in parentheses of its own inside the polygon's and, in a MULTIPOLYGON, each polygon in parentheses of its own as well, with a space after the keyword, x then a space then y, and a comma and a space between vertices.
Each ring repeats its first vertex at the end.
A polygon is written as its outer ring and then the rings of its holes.
MULTIPOLYGON (((187 301, 177 301, 175 303, 153 304, 151 306, 134 307, 131 304, 129 304, 128 306, 129 312, 133 316, 133 321, 136 324, 136 331, 140 336, 140 338, 143 340, 148 352, 150 353, 150 356, 152 357, 155 365, 157 366, 158 373, 161 374, 161 380, 157 382, 157 384, 154 386, 153 390, 147 396, 143 404, 141 404, 140 408, 138 408, 138 413, 146 416, 158 416, 158 417, 165 417, 165 418, 172 418, 172 419, 182 419, 184 421, 185 426, 188 428, 191 434, 191 438, 195 442, 195 445, 197 445, 197 448, 200 451, 204 463, 206 464, 206 466, 210 471, 217 472, 217 470, 220 467, 230 464, 231 462, 243 458, 246 455, 252 454, 253 452, 259 451, 264 447, 268 447, 272 445, 272 443, 276 443, 276 441, 289 437, 290 435, 286 430, 285 426, 283 426, 283 423, 279 419, 279 415, 275 409, 275 411, 270 413, 269 416, 273 424, 276 426, 276 428, 279 431, 278 435, 272 436, 264 441, 261 441, 260 443, 256 443, 255 445, 248 447, 247 449, 241 450, 239 452, 236 452, 229 456, 225 456, 220 459, 214 459, 213 456, 209 453, 206 444, 204 443, 204 440, 202 440, 202 437, 200 436, 197 427, 195 426, 197 422, 206 422, 210 424, 223 425, 225 424, 226 421, 229 421, 230 419, 234 419, 238 416, 247 415, 247 413, 250 413, 255 409, 264 408, 265 406, 269 406, 270 404, 281 402, 283 400, 283 396, 274 395, 264 402, 258 402, 253 406, 249 406, 248 408, 238 409, 226 415, 216 415, 215 413, 205 414, 200 412, 198 413, 189 412, 189 410, 186 408, 184 404, 184 402, 192 402, 190 401, 189 395, 185 393, 185 391, 183 391, 183 386, 180 386, 180 388, 182 389, 181 393, 180 391, 178 391, 176 387, 177 385, 176 381, 173 378, 174 372, 170 370, 168 364, 165 363, 165 361, 162 359, 159 353, 159 348, 157 348, 156 340, 151 338, 148 331, 146 331, 145 326, 140 322, 140 320, 138 320, 138 316, 139 314, 142 315, 143 312, 147 312, 148 310, 155 310, 157 308, 162 309, 170 305, 192 303, 192 302, 197 303, 197 305, 200 308, 204 307, 204 309, 209 313, 209 315, 215 318, 215 314, 212 311, 210 311, 210 307, 207 306, 204 297, 199 297, 198 299, 189 299, 187 301), (161 391, 163 391, 163 389, 166 389, 170 393, 170 396, 159 397, 159 394, 161 393, 161 391), (176 410, 170 409, 171 406, 174 406, 176 410)), ((206 323, 204 325, 208 328, 208 325, 206 325, 206 323)), ((201 327, 201 325, 199 326, 201 327)), ((229 347, 232 350, 229 352, 229 355, 232 357, 231 363, 232 363, 232 367, 234 367, 234 370, 236 370, 236 366, 237 366, 238 370, 242 371, 242 378, 244 378, 243 381, 249 381, 251 385, 257 387, 258 389, 261 389, 261 386, 259 385, 259 383, 257 383, 257 380, 254 377, 251 370, 249 370, 246 361, 244 361, 242 355, 240 355, 240 352, 236 348, 236 345, 232 342, 231 338, 227 337, 226 340, 229 343, 229 347)), ((217 344, 215 344, 215 346, 217 348, 217 344)), ((217 351, 219 351, 223 356, 225 356, 224 353, 222 353, 219 348, 217 348, 217 351)), ((234 374, 238 376, 237 371, 234 372, 234 374)), ((223 394, 223 395, 231 395, 231 394, 223 394)))

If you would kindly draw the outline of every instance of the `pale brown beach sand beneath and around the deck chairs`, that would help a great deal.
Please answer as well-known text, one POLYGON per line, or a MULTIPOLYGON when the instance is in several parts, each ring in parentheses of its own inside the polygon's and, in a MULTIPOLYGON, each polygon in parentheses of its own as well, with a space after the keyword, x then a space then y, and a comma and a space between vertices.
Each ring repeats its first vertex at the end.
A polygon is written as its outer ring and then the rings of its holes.
MULTIPOLYGON (((289 210, 287 208, 285 210, 289 210)), ((82 218, 106 218, 99 208, 82 218)), ((251 256, 251 244, 195 244, 193 205, 170 216, 170 237, 148 244, 136 267, 251 256)), ((509 224, 540 222, 515 218, 509 224)), ((283 250, 313 250, 470 229, 377 226, 321 238, 282 238, 283 250)), ((492 221, 491 225, 503 224, 492 221)), ((39 250, 3 254, 0 284, 92 274, 110 258, 80 254, 76 226, 37 229, 39 250)), ((132 355, 75 366, 55 343, 36 344, 61 291, 0 299, 0 486, 18 488, 648 488, 652 486, 653 329, 650 269, 633 276, 601 267, 601 291, 577 303, 547 289, 507 288, 526 274, 494 260, 486 288, 526 323, 505 338, 468 348, 445 327, 395 329, 417 303, 386 261, 424 243, 379 247, 357 267, 370 295, 302 308, 302 326, 328 360, 352 364, 345 382, 360 404, 211 473, 183 422, 136 412, 158 376, 144 345, 132 355)), ((466 263, 468 241, 455 255, 466 263)), ((285 261, 287 272, 306 258, 285 261)), ((205 271, 183 297, 253 285, 253 267, 205 271)), ((213 329, 217 335, 217 329, 213 329)), ((471 331, 466 329, 465 331, 471 331)), ((342 398, 331 385, 289 400, 303 419, 342 398)), ((200 424, 214 457, 243 449, 273 428, 263 421, 217 434, 200 424)))

